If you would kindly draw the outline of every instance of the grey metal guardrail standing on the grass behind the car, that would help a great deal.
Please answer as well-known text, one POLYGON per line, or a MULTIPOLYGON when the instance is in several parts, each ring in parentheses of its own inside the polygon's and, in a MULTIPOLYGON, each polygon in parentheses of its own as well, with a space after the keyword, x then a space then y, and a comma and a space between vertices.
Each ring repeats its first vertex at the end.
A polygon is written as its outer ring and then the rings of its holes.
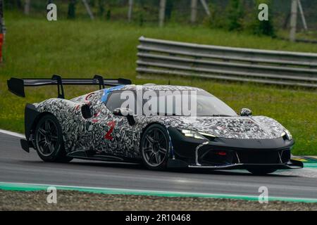
POLYGON ((317 53, 139 38, 137 72, 317 87, 317 53))

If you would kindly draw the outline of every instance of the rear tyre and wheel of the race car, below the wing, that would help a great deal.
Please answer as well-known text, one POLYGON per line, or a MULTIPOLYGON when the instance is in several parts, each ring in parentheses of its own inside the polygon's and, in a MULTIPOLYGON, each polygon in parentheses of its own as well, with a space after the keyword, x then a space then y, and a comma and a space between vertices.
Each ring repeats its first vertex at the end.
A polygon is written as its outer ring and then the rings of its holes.
POLYGON ((70 162, 66 156, 61 125, 54 115, 44 115, 35 127, 35 148, 44 162, 70 162))

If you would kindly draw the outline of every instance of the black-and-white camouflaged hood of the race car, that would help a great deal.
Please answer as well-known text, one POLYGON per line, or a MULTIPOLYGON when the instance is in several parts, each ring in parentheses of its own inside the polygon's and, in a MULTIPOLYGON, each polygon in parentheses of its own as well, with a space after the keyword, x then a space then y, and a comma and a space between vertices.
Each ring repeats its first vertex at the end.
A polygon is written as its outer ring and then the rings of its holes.
POLYGON ((228 139, 277 139, 287 132, 270 117, 173 117, 170 126, 228 139))

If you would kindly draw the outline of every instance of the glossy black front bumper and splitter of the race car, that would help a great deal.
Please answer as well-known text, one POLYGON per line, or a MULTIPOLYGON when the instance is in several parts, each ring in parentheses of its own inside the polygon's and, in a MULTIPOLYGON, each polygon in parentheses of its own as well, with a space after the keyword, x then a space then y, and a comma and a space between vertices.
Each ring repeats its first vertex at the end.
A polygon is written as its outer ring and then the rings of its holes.
POLYGON ((300 169, 302 162, 291 160, 294 141, 279 139, 192 139, 178 129, 168 128, 173 159, 168 167, 209 169, 300 169))

